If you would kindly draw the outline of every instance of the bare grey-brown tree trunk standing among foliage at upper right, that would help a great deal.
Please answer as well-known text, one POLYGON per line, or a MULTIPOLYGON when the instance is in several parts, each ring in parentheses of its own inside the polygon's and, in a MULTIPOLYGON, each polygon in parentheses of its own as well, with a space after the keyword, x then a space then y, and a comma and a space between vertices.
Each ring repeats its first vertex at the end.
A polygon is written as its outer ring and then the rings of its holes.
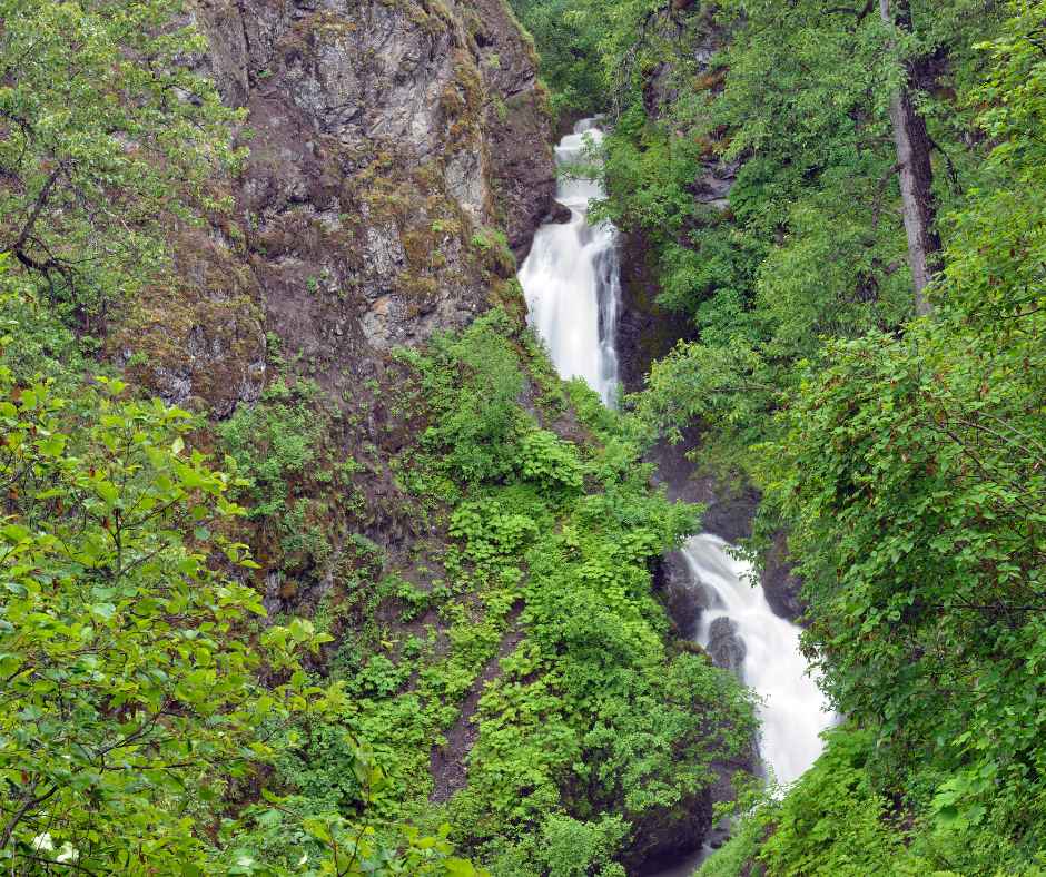
MULTIPOLYGON (((882 21, 911 32, 909 0, 879 0, 882 21), (891 9, 892 6, 892 9, 891 9)), ((900 196, 908 235, 908 264, 915 287, 916 313, 930 312, 925 289, 940 270, 940 236, 935 227, 937 206, 934 201, 934 168, 930 164, 930 138, 926 120, 911 104, 911 73, 890 100, 890 121, 900 174, 900 196)))

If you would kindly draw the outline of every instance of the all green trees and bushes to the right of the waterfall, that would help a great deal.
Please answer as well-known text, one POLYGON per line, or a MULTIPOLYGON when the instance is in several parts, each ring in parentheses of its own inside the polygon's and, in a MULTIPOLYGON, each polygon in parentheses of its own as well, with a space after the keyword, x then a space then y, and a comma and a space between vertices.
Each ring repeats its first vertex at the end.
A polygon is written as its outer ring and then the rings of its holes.
POLYGON ((762 490, 756 544, 787 532, 848 717, 702 874, 1046 867, 1046 7, 887 8, 568 13, 616 111, 599 214, 645 236, 695 336, 631 402, 762 490))

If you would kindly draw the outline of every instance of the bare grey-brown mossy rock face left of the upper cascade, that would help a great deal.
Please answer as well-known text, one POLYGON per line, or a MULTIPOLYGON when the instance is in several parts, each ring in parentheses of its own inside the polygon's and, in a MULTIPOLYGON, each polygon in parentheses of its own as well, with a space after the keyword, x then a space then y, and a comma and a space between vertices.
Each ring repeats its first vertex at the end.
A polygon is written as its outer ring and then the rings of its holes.
POLYGON ((194 17, 249 157, 235 219, 177 246, 194 289, 119 339, 147 383, 224 416, 257 397, 276 341, 345 391, 511 297, 510 246, 529 248, 555 178, 536 57, 503 0, 196 0, 194 17))

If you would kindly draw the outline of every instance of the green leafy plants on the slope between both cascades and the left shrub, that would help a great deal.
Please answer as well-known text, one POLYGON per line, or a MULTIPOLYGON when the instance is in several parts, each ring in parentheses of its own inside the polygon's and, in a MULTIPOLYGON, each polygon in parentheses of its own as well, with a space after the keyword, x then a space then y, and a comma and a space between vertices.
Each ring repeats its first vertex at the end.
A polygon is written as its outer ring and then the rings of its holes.
MULTIPOLYGON (((544 874, 527 850, 570 834, 588 840, 555 873, 620 874, 612 863, 647 820, 693 806, 711 765, 750 746, 751 708, 707 658, 664 644, 650 562, 692 531, 694 510, 650 493, 638 445, 605 412, 585 445, 540 427, 516 401, 521 354, 535 355, 516 332, 495 312, 402 354, 431 424, 404 480, 443 504, 453 542, 442 579, 383 584, 385 602, 362 613, 386 618, 391 602, 416 632, 379 627, 352 651, 346 640, 336 673, 356 696, 354 732, 381 753, 389 812, 431 789, 494 874, 544 874), (481 673, 476 739, 458 755, 467 785, 444 789, 437 771, 433 788, 424 743, 465 732, 481 673)), ((551 386, 537 405, 554 418, 566 407, 551 386)), ((357 612, 353 593, 333 611, 357 612)))

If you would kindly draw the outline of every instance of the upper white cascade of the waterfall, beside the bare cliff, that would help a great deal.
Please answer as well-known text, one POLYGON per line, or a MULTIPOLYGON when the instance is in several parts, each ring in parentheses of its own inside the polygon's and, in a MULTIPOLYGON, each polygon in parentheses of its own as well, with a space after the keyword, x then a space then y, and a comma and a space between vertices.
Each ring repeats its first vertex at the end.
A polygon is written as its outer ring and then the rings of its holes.
MULTIPOLYGON (((586 142, 598 144, 602 137, 594 119, 578 122, 555 148, 556 165, 584 161, 586 142)), ((547 345, 556 371, 563 377, 584 378, 613 405, 621 300, 616 229, 588 221, 589 200, 604 194, 598 180, 562 178, 555 199, 570 209, 570 221, 537 229, 519 278, 531 325, 547 345)))

